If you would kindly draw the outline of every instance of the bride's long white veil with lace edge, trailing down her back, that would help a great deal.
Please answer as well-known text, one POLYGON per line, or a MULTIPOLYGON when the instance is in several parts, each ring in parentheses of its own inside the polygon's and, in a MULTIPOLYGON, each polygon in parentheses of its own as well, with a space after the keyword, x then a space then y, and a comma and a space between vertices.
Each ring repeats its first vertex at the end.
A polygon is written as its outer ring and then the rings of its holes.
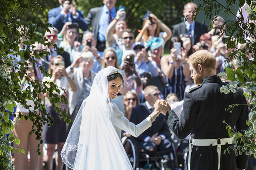
POLYGON ((132 170, 111 122, 107 76, 114 70, 109 66, 96 74, 70 129, 61 157, 73 170, 132 170))

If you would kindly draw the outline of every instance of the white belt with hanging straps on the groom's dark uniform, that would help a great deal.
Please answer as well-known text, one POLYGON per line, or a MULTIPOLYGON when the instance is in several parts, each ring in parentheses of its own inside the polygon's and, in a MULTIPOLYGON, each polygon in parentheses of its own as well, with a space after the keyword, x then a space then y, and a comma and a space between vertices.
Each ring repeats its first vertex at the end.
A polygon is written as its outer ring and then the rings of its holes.
POLYGON ((191 160, 191 152, 193 146, 217 146, 218 152, 218 170, 220 170, 220 155, 221 155, 221 146, 225 145, 226 143, 232 144, 233 138, 222 138, 222 139, 192 139, 189 140, 189 147, 188 147, 188 170, 190 170, 190 160, 191 160), (192 140, 192 143, 190 143, 192 140), (219 144, 218 144, 219 143, 219 144))

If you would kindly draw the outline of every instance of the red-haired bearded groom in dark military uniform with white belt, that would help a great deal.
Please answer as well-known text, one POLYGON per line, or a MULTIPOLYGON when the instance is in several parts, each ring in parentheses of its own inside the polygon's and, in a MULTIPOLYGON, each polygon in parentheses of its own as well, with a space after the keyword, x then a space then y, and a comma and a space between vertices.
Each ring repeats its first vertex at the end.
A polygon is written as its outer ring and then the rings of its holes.
POLYGON ((237 157, 233 150, 231 154, 223 154, 233 142, 223 121, 240 132, 247 128, 248 106, 243 90, 236 89, 229 94, 220 92, 220 87, 227 83, 216 76, 216 59, 206 50, 192 54, 188 63, 191 77, 198 86, 185 92, 180 119, 167 103, 162 110, 165 122, 178 138, 183 139, 191 133, 186 159, 188 170, 246 169, 248 156, 245 152, 237 157), (240 105, 231 113, 225 110, 230 104, 240 105))

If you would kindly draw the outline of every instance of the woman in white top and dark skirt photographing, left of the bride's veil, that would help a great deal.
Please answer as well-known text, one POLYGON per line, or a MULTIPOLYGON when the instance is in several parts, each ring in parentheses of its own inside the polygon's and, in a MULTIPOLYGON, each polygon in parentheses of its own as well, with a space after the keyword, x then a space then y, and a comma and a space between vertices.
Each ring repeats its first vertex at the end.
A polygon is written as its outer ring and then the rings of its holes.
MULTIPOLYGON (((76 91, 76 84, 73 80, 70 79, 70 76, 66 72, 66 68, 64 66, 64 59, 62 56, 58 55, 54 57, 49 66, 48 72, 52 74, 52 78, 50 77, 44 77, 43 82, 53 82, 56 84, 60 90, 60 93, 56 92, 56 94, 61 97, 64 95, 66 98, 68 98, 68 90, 76 91), (64 90, 66 90, 66 93, 64 90)), ((49 84, 50 86, 50 84, 49 84)), ((64 120, 61 120, 59 117, 61 112, 65 109, 66 114, 69 114, 68 105, 62 102, 50 102, 50 99, 48 98, 48 93, 46 92, 44 94, 45 96, 45 107, 47 112, 50 113, 52 118, 54 119, 54 124, 51 126, 48 126, 48 124, 44 125, 44 143, 47 144, 47 153, 45 156, 45 159, 47 161, 46 163, 46 169, 52 170, 53 166, 53 159, 52 156, 54 154, 55 146, 57 144, 57 150, 58 154, 56 154, 55 162, 56 162, 56 170, 62 170, 63 168, 63 162, 60 157, 60 151, 62 150, 62 147, 64 146, 64 143, 66 141, 66 138, 68 136, 68 130, 66 128, 66 122, 64 120), (56 112, 55 108, 58 107, 59 111, 56 112)))

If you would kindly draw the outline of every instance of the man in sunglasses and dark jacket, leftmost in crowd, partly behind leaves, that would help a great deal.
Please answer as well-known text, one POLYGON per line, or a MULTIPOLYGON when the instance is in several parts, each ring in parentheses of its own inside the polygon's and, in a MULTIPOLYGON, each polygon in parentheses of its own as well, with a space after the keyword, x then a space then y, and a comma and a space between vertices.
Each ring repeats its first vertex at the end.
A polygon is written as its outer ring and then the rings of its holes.
POLYGON ((56 44, 58 42, 58 29, 57 28, 48 28, 50 30, 50 32, 45 32, 44 37, 48 40, 48 42, 51 42, 51 45, 48 46, 43 46, 44 49, 47 49, 50 54, 48 56, 44 56, 43 60, 50 62, 52 60, 52 58, 56 57, 57 55, 61 55, 64 58, 64 62, 65 62, 65 67, 67 68, 68 66, 71 65, 71 61, 70 61, 70 55, 68 52, 63 52, 63 54, 61 54, 59 48, 55 49, 54 48, 54 44, 56 44))

